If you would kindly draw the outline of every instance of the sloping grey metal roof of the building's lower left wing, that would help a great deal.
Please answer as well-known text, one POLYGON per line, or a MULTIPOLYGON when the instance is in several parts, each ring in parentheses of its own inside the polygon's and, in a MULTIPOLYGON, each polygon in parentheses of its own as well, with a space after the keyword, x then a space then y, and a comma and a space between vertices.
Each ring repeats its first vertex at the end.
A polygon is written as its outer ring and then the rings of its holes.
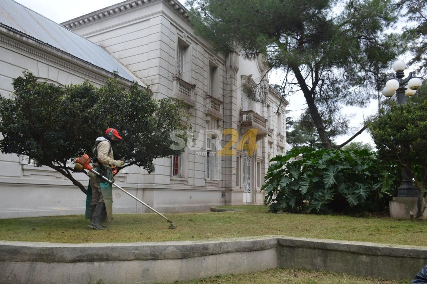
POLYGON ((129 81, 145 85, 110 53, 13 0, 0 1, 0 23, 129 81))

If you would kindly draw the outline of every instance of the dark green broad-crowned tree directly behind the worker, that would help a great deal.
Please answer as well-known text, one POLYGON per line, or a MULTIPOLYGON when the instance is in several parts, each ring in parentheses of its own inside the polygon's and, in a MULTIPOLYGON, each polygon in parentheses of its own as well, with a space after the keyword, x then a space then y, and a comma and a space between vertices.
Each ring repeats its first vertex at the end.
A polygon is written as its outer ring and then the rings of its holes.
POLYGON ((153 100, 149 89, 136 83, 125 88, 117 79, 108 79, 100 88, 88 81, 62 87, 37 79, 24 72, 13 80, 11 98, 0 97, 3 153, 28 155, 86 193, 67 161, 85 153, 92 156, 95 139, 108 127, 118 129, 123 137, 114 146, 114 156, 126 159, 123 167, 137 165, 152 173, 153 159, 182 151, 170 148, 170 132, 187 128, 179 101, 153 100))

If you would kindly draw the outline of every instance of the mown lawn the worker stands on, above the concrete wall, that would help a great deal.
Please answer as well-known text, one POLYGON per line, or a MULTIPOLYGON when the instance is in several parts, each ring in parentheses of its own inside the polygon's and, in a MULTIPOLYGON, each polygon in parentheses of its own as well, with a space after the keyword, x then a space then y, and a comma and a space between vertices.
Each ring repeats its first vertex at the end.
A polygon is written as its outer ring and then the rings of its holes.
POLYGON ((262 205, 228 206, 232 212, 166 214, 177 225, 155 214, 114 214, 105 231, 88 228, 82 215, 0 220, 0 240, 66 243, 211 240, 225 237, 287 235, 333 240, 425 246, 426 222, 389 217, 272 214, 262 205))

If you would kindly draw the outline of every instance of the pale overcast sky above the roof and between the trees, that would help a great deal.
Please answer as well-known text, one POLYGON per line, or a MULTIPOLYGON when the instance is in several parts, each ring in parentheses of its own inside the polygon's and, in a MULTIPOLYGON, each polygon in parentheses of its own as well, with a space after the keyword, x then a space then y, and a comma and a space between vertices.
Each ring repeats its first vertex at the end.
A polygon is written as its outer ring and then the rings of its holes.
MULTIPOLYGON (((55 21, 56 23, 62 23, 73 18, 88 14, 90 12, 97 11, 99 9, 120 3, 120 0, 73 0, 73 1, 61 1, 61 0, 15 0, 18 3, 38 12, 41 15, 55 21)), ((180 3, 184 4, 185 0, 179 0, 180 3)), ((401 60, 407 61, 407 58, 401 58, 401 60)), ((390 72, 392 72, 390 65, 390 72)), ((283 81, 283 72, 272 70, 270 74, 270 84, 281 85, 283 81)), ((382 97, 382 95, 381 95, 382 97)), ((288 116, 293 117, 294 120, 299 117, 301 110, 306 108, 305 99, 301 94, 293 95, 287 98, 290 101, 290 105, 287 107, 291 112, 288 116)), ((353 115, 351 118, 350 126, 354 127, 354 130, 348 133, 348 135, 342 135, 335 139, 337 144, 343 143, 350 138, 355 132, 357 132, 362 126, 364 119, 368 118, 373 114, 377 114, 378 100, 371 100, 367 108, 357 107, 343 107, 342 114, 353 115)), ((361 141, 363 143, 370 143, 374 146, 371 139, 371 135, 367 130, 357 136, 353 141, 361 141)))

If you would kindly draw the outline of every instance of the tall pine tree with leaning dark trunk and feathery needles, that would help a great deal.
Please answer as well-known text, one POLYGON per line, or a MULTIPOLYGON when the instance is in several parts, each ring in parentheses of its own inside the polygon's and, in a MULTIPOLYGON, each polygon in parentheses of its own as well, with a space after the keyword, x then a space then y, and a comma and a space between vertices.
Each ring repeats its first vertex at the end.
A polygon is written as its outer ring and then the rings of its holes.
POLYGON ((348 129, 342 104, 363 106, 380 89, 383 70, 403 52, 390 0, 190 0, 197 34, 216 50, 263 54, 287 74, 284 88, 303 94, 322 146, 328 122, 348 129), (295 88, 293 88, 296 86, 295 88))

